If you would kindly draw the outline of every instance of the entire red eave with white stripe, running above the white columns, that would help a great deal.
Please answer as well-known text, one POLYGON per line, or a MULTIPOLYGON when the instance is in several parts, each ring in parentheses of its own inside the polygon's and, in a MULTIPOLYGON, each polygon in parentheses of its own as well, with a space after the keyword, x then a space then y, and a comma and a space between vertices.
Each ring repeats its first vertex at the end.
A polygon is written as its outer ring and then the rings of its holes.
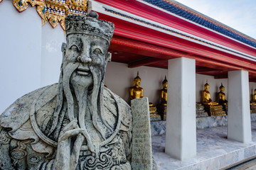
POLYGON ((255 80, 255 47, 139 1, 97 1, 107 5, 97 4, 92 10, 115 25, 112 61, 166 69, 168 60, 189 57, 196 60, 200 74, 220 79, 230 70, 244 69, 255 80))

